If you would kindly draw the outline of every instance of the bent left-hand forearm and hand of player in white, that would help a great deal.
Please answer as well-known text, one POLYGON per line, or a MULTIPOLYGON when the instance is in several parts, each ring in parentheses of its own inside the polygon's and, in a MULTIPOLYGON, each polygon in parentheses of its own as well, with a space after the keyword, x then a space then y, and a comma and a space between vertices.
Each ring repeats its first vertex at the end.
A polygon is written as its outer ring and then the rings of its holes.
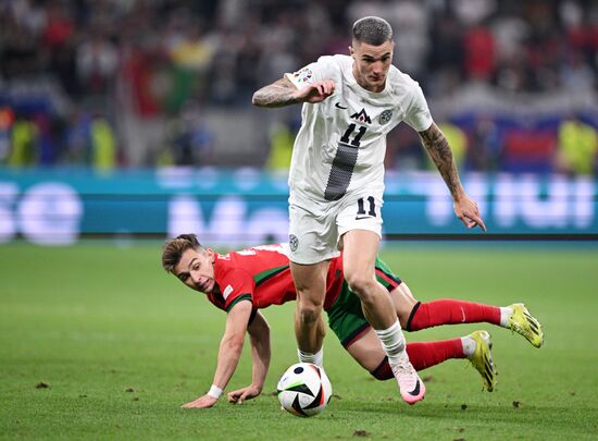
POLYGON ((258 107, 284 107, 298 102, 321 102, 333 95, 332 79, 316 82, 298 89, 285 76, 253 94, 251 102, 258 107))

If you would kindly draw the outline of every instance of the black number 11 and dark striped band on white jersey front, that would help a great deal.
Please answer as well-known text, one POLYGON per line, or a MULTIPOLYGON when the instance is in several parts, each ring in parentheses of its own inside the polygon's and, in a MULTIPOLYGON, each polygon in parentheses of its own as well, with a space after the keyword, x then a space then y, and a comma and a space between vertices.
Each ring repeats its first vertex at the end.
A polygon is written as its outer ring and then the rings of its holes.
POLYGON ((356 124, 349 124, 338 142, 336 156, 334 157, 331 174, 328 175, 328 183, 324 192, 326 200, 338 200, 347 193, 357 163, 359 142, 367 127, 360 125, 357 135, 351 140, 350 137, 354 130, 356 124))

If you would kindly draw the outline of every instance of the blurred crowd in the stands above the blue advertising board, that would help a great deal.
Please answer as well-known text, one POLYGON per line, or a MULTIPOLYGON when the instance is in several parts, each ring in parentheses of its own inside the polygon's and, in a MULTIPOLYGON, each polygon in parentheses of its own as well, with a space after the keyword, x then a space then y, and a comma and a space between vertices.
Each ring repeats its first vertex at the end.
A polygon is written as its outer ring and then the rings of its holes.
MULTIPOLYGON (((395 64, 431 103, 479 85, 530 99, 598 96, 591 0, 0 0, 0 163, 209 164, 219 133, 204 114, 254 111, 260 86, 347 53, 350 25, 364 15, 390 22, 395 64)), ((438 122, 469 170, 591 174, 596 108, 521 126, 475 111, 438 122)), ((296 126, 257 127, 272 145, 257 164, 285 167, 296 126)), ((418 144, 397 128, 387 166, 428 167, 418 144)))

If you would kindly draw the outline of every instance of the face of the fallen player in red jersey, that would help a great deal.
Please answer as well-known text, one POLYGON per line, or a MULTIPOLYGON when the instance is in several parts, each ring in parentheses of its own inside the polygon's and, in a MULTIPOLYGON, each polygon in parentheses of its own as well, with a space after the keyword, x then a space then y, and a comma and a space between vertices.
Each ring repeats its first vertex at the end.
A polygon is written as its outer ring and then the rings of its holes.
POLYGON ((174 274, 192 290, 209 294, 214 290, 214 253, 211 249, 187 249, 180 256, 174 274))

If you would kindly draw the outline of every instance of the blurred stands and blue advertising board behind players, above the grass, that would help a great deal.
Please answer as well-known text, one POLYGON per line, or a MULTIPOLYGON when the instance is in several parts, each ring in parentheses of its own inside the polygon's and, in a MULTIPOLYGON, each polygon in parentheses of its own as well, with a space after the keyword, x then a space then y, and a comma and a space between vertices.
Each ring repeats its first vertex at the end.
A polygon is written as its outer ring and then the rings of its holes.
MULTIPOLYGON (((596 2, 1 0, 0 242, 285 240, 300 108, 250 97, 363 15, 394 25, 490 233, 596 238, 596 2)), ((386 164, 389 238, 463 233, 404 124, 386 164)))

